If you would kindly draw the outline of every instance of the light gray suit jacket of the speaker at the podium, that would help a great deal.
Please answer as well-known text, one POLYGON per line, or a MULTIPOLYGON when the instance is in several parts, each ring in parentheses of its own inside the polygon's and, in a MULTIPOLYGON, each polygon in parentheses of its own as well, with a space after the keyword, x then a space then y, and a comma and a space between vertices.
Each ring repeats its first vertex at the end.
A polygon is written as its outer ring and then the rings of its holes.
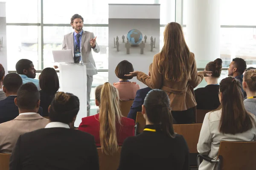
MULTIPOLYGON (((82 61, 84 63, 92 64, 95 68, 95 62, 93 59, 92 54, 92 47, 90 45, 90 39, 95 38, 94 34, 89 31, 84 31, 82 34, 82 40, 81 40, 81 55, 82 55, 82 61)), ((73 57, 74 57, 74 32, 69 33, 64 36, 64 40, 62 42, 62 49, 67 50, 70 49, 72 51, 73 57)), ((96 47, 93 49, 94 52, 99 53, 99 45, 96 42, 96 47)), ((97 69, 92 69, 87 67, 87 75, 93 76, 97 74, 97 69), (89 69, 89 70, 88 70, 89 69)))

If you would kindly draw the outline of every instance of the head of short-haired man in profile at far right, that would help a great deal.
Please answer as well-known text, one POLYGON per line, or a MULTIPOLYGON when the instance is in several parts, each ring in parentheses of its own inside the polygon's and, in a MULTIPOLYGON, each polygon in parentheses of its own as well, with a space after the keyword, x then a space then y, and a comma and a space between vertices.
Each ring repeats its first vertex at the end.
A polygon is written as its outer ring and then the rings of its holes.
POLYGON ((246 62, 241 58, 234 58, 230 63, 228 70, 228 76, 236 77, 244 73, 246 69, 246 62))

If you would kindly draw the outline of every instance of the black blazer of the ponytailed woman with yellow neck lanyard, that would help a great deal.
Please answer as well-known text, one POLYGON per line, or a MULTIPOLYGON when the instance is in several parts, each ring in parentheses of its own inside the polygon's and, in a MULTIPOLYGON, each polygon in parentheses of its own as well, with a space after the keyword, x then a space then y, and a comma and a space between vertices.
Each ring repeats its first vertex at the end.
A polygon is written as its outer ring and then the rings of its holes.
POLYGON ((189 170, 189 148, 181 135, 143 131, 125 139, 118 170, 189 170))

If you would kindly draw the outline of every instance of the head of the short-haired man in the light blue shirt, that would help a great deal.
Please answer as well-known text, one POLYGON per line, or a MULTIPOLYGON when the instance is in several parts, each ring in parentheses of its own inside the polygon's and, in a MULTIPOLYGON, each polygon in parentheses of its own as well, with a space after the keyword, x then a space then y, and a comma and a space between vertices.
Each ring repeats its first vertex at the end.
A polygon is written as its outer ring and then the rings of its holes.
POLYGON ((17 74, 24 74, 29 78, 35 79, 36 70, 34 68, 34 64, 29 59, 20 59, 16 63, 16 71, 17 74))

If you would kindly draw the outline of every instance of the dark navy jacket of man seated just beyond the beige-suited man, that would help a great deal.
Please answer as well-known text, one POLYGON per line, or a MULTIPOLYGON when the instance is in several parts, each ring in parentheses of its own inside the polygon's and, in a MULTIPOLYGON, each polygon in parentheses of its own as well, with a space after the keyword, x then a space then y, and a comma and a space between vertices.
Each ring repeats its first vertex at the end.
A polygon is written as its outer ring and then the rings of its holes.
MULTIPOLYGON (((14 103, 17 96, 8 96, 0 100, 0 123, 8 122, 19 116, 19 109, 14 103)), ((40 107, 38 113, 42 116, 42 108, 40 107)))

